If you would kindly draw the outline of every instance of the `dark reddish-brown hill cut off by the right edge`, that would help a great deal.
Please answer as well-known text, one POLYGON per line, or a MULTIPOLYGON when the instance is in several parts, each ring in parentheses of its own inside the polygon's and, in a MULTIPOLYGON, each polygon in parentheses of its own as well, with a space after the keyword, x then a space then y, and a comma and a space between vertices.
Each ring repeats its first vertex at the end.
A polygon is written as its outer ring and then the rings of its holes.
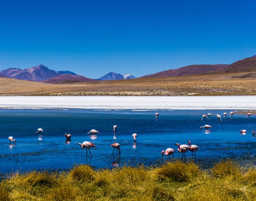
POLYGON ((236 61, 230 64, 225 69, 214 71, 214 73, 240 73, 240 72, 255 72, 256 71, 256 55, 236 61))

